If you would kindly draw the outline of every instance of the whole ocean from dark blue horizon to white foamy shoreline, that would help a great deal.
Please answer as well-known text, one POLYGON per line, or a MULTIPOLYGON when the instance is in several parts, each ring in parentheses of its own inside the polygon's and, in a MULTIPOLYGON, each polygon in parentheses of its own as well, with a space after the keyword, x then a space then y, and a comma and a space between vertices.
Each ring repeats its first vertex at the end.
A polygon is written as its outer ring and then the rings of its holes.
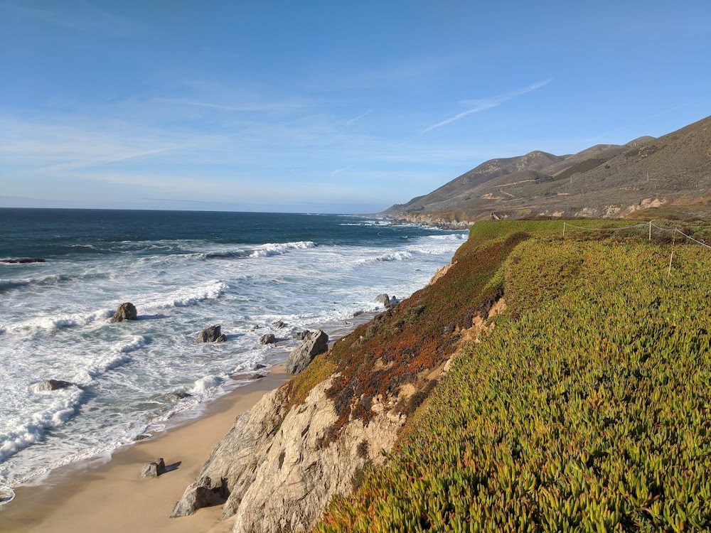
POLYGON ((422 288, 464 239, 352 215, 0 209, 0 259, 46 260, 0 263, 0 502, 198 416, 295 333, 422 288), (124 301, 139 319, 109 323, 124 301), (197 343, 213 324, 227 341, 197 343), (33 392, 44 379, 73 386, 33 392))

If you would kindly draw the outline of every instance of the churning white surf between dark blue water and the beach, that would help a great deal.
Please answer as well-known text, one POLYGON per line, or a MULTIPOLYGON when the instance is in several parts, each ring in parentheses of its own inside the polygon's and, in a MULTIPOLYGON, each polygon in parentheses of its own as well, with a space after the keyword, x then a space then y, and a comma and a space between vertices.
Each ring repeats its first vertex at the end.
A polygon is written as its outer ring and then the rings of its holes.
MULTIPOLYGON (((426 284, 462 240, 444 233, 405 239, 409 232, 394 226, 376 231, 392 233, 387 247, 124 242, 119 254, 48 263, 43 277, 58 276, 57 283, 32 282, 16 293, 21 298, 0 298, 0 331, 7 330, 0 343, 0 443, 10 454, 0 459, 0 485, 109 454, 175 414, 193 412, 240 384, 230 379, 236 372, 284 359, 285 350, 260 345, 260 335, 348 327, 353 316, 377 308, 378 294, 402 298, 426 284), (109 324, 124 301, 137 306, 141 320, 109 324), (287 328, 275 329, 277 320, 287 328), (228 342, 196 343, 193 333, 212 324, 223 326, 228 342), (63 405, 57 402, 66 389, 31 394, 27 384, 38 376, 78 383, 85 395, 63 405), (192 396, 169 394, 178 390, 192 396), (23 428, 45 412, 37 427, 23 428), (42 446, 33 446, 38 441, 42 446)), ((9 281, 41 277, 28 271, 9 281)), ((284 341, 286 350, 294 345, 284 341)))

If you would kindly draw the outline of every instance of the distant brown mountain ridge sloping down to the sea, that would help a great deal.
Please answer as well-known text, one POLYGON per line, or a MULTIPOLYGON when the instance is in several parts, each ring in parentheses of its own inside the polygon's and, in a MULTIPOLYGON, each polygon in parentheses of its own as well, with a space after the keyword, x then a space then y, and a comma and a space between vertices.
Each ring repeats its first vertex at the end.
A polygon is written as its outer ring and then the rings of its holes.
POLYGON ((622 217, 711 199, 711 117, 657 139, 577 154, 491 159, 427 195, 380 213, 415 222, 533 216, 622 217))

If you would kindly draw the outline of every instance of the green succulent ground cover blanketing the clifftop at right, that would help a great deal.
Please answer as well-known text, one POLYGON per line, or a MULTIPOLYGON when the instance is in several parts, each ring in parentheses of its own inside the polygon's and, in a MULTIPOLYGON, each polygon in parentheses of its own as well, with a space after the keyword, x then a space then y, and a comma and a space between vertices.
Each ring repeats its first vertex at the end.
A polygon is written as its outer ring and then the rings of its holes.
POLYGON ((491 280, 510 313, 316 531, 711 530, 711 252, 675 247, 668 276, 667 244, 556 224, 475 226, 539 236, 491 280))

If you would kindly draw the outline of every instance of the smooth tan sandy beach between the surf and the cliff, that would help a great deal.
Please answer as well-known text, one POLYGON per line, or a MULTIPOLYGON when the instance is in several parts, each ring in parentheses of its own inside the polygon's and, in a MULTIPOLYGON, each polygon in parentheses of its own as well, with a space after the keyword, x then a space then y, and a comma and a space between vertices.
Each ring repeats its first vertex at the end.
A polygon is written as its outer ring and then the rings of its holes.
POLYGON ((208 404, 201 418, 115 452, 110 461, 54 470, 43 485, 16 488, 15 500, 0 508, 2 532, 228 532, 221 507, 171 519, 173 505, 195 480, 235 416, 247 411, 291 377, 284 364, 269 375, 208 404), (143 479, 141 466, 162 457, 177 468, 143 479))

